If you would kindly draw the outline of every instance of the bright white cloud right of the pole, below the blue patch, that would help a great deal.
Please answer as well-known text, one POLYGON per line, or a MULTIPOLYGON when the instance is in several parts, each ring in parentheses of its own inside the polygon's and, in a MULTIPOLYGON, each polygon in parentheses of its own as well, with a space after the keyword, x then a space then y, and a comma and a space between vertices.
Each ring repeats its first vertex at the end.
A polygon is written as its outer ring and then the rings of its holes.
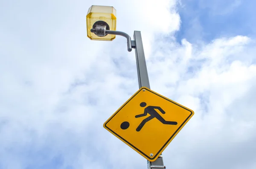
MULTIPOLYGON (((166 46, 171 46, 170 43, 166 46)), ((171 159, 166 161, 166 165, 174 165, 174 168, 236 168, 234 161, 239 167, 246 165, 243 163, 248 158, 246 155, 229 157, 234 152, 246 151, 249 146, 254 150, 256 148, 247 144, 256 137, 256 116, 252 113, 255 111, 249 108, 255 107, 251 101, 256 99, 253 94, 256 65, 242 57, 248 48, 250 39, 241 36, 216 39, 199 50, 183 40, 179 48, 165 48, 160 52, 166 57, 158 62, 157 67, 154 63, 160 54, 151 56, 154 60, 149 65, 154 67, 149 69, 151 78, 154 78, 152 88, 195 111, 182 134, 163 153, 171 159), (166 68, 163 68, 164 65, 166 68), (188 70, 190 67, 192 69, 188 70), (157 78, 157 74, 161 76, 157 78), (171 80, 174 76, 175 80, 171 80), (247 99, 248 96, 250 99, 247 99), (238 100, 241 102, 238 103, 238 100), (248 104, 244 105, 246 102, 248 104), (236 107, 240 107, 240 111, 236 107), (215 155, 218 152, 220 154, 215 155), (177 163, 177 158, 183 161, 177 163), (222 161, 223 158, 227 161, 222 161), (209 166, 209 163, 213 165, 209 166)), ((252 52, 250 56, 253 55, 252 52)), ((249 163, 251 166, 247 168, 255 167, 252 161, 249 163)))

